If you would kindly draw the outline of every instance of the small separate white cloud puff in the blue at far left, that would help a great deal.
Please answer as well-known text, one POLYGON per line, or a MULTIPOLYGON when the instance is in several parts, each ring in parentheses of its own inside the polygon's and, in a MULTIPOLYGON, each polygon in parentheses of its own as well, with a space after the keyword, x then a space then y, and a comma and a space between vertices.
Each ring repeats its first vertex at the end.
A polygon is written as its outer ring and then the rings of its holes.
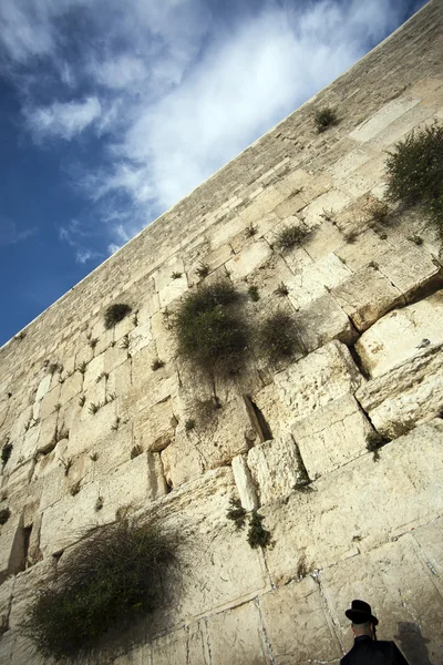
POLYGON ((28 125, 38 140, 59 136, 66 141, 83 132, 101 113, 102 106, 95 96, 24 111, 28 125))

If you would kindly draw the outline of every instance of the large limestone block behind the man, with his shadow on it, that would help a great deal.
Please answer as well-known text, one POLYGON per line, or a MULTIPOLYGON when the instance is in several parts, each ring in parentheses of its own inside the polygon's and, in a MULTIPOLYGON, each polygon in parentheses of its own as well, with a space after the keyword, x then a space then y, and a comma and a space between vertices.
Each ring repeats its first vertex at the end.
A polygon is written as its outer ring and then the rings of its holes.
POLYGON ((380 640, 395 640, 411 665, 440 663, 443 598, 434 577, 409 534, 321 571, 321 589, 342 651, 352 646, 344 610, 352 598, 365 598, 380 621, 380 640))

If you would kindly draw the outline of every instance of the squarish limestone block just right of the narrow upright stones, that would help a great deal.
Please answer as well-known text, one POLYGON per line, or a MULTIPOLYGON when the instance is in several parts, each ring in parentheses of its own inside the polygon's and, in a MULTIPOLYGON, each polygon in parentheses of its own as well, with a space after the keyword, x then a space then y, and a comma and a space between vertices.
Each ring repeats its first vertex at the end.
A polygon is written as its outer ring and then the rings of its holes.
POLYGON ((292 428, 311 480, 365 453, 372 431, 352 395, 329 402, 292 428))

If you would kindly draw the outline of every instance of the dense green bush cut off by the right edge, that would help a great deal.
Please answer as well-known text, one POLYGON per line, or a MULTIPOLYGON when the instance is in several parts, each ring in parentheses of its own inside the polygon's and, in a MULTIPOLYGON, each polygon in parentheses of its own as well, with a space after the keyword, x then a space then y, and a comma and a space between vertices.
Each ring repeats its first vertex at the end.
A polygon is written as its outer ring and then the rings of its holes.
POLYGON ((443 125, 411 132, 387 158, 387 200, 418 206, 443 236, 443 125))

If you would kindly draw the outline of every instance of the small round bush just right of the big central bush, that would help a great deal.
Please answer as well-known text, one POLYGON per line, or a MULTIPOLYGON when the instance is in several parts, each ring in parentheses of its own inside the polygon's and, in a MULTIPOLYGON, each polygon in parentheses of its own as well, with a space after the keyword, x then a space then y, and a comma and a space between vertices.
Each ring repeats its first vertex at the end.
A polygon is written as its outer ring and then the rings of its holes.
POLYGON ((300 350, 296 323, 289 314, 281 310, 265 318, 259 326, 257 341, 260 355, 270 362, 290 358, 300 350))

